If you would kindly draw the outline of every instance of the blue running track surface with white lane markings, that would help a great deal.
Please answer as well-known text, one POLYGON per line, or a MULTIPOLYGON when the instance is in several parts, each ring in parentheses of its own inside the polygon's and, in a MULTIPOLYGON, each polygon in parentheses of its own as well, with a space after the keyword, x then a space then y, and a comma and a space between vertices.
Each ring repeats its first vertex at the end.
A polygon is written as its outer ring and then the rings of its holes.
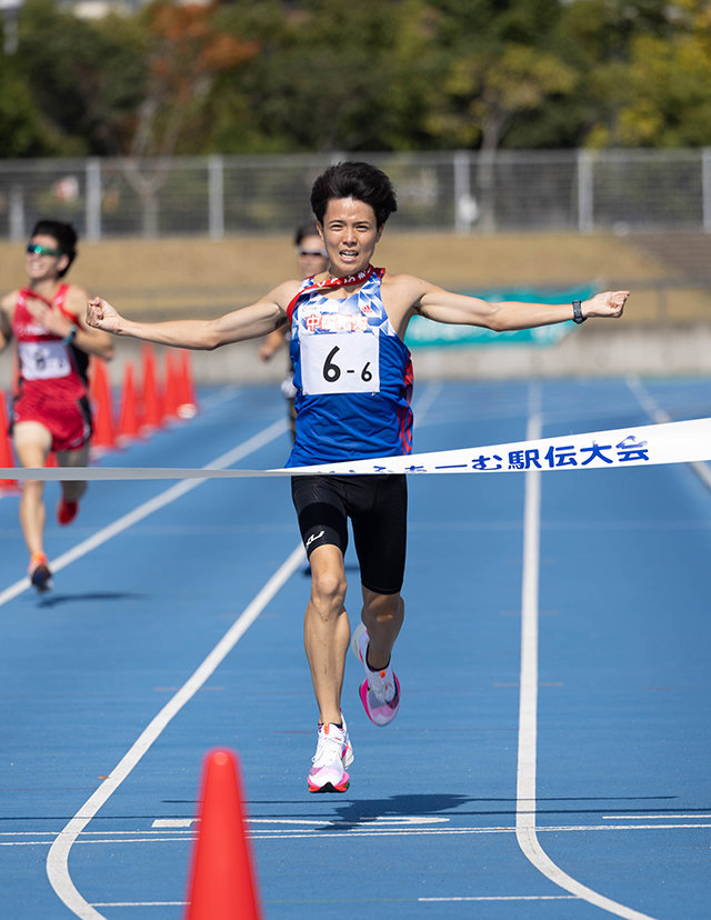
MULTIPOLYGON (((709 380, 415 392, 417 451, 522 440, 537 413, 545 436, 647 424, 654 407, 711 414, 709 380)), ((273 387, 199 396, 196 419, 101 462, 199 467, 247 444, 236 466, 283 463, 273 387)), ((539 482, 531 518, 520 473, 410 479, 403 702, 373 727, 349 661, 342 796, 306 791, 309 580, 288 480, 93 483, 69 528, 49 484, 59 566, 42 597, 12 590, 27 560, 17 498, 0 500, 0 917, 182 917, 218 746, 240 757, 267 920, 711 916, 711 493, 683 464, 539 482), (177 704, 266 586, 253 623, 177 704)))

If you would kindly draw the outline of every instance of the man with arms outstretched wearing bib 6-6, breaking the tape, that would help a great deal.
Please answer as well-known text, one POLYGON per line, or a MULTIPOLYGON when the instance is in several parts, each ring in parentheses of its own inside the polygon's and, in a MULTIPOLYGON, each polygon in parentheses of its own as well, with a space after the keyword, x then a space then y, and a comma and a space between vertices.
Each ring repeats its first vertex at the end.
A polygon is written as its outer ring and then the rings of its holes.
MULTIPOLYGON (((100 298, 88 322, 119 336, 183 348, 213 349, 264 336, 289 323, 297 388, 297 440, 287 466, 409 453, 412 370, 403 343, 415 314, 497 331, 588 317, 620 317, 629 291, 598 293, 574 304, 502 302, 452 293, 411 274, 389 274, 371 259, 397 210, 389 178, 369 163, 342 162, 320 176, 311 206, 329 257, 327 271, 284 281, 261 300, 216 320, 133 322, 100 298)), ((351 519, 363 608, 352 646, 365 680, 369 718, 390 722, 400 687, 390 653, 403 621, 404 476, 293 477, 292 496, 311 564, 304 646, 319 708, 311 792, 343 792, 353 759, 341 712, 351 642, 344 609, 343 557, 351 519)))

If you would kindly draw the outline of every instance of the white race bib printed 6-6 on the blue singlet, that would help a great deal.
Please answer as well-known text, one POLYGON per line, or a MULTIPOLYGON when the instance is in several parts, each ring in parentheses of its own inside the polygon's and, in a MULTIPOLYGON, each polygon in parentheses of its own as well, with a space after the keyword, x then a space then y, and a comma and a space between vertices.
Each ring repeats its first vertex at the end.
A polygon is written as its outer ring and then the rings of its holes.
POLYGON ((301 386, 309 396, 380 392, 379 337, 371 332, 301 334, 301 386))

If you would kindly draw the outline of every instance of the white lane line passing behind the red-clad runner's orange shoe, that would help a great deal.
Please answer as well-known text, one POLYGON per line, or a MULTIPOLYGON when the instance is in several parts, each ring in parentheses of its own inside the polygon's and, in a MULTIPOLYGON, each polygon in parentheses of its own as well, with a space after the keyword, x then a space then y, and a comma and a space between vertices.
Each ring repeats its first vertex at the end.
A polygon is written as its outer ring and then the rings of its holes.
MULTIPOLYGON (((206 463, 206 466, 202 467, 202 469, 226 469, 228 467, 231 467, 233 463, 237 463, 243 457, 247 457, 247 454, 252 453, 253 451, 259 450, 259 448, 264 447, 266 444, 273 441, 286 430, 287 421, 286 419, 280 419, 279 421, 276 421, 273 424, 270 424, 263 431, 260 431, 258 434, 254 434, 249 440, 244 441, 241 444, 238 444, 236 448, 229 450, 227 453, 223 453, 221 457, 218 457, 216 460, 206 463)), ((197 487, 201 486, 204 481, 206 480, 203 479, 184 479, 181 482, 178 482, 176 486, 171 486, 170 489, 166 489, 164 492, 161 492, 159 496, 156 496, 156 498, 152 498, 143 504, 140 504, 133 511, 129 511, 128 514, 124 514, 122 518, 119 518, 118 520, 113 521, 113 523, 110 523, 102 530, 97 531, 87 540, 83 540, 81 543, 77 543, 77 546, 68 550, 68 552, 62 553, 62 556, 58 556, 57 559, 50 560, 50 569, 52 570, 52 572, 61 571, 61 569, 66 568, 71 562, 76 562, 77 559, 80 559, 82 556, 86 556, 88 552, 91 552, 91 550, 97 549, 97 547, 100 547, 108 540, 111 540, 118 533, 121 533, 129 527, 132 527, 134 523, 142 521, 144 518, 148 518, 149 514, 152 514, 154 511, 159 511, 161 508, 164 508, 167 504, 170 504, 171 501, 176 501, 176 499, 181 498, 191 489, 197 489, 197 487)), ((21 594, 22 591, 26 591, 29 587, 30 579, 24 577, 21 578, 19 581, 16 581, 16 583, 11 584, 9 588, 6 588, 4 591, 0 591, 0 607, 17 598, 18 594, 21 594)))

